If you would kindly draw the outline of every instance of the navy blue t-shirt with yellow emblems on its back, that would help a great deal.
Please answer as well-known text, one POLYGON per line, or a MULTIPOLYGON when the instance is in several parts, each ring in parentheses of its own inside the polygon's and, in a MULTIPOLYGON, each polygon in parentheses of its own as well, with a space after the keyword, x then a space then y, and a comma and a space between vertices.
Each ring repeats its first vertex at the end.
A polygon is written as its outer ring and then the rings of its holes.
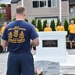
POLYGON ((27 52, 31 50, 30 39, 37 37, 38 34, 32 24, 16 20, 7 25, 2 39, 8 41, 9 52, 27 52))

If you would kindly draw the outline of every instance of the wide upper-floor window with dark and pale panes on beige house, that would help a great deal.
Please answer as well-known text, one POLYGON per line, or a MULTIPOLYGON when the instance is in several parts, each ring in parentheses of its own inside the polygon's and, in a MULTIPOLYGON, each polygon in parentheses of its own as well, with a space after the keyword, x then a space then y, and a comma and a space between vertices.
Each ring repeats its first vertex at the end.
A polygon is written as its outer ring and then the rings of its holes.
POLYGON ((33 8, 56 6, 56 0, 33 0, 32 3, 33 3, 33 8))

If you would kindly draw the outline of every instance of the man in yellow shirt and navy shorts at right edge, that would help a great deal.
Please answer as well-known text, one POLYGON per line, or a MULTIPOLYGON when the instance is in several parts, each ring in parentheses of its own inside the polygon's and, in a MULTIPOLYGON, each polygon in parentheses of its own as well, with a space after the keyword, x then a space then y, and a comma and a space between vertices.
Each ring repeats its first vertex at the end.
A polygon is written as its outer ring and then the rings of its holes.
POLYGON ((71 20, 71 24, 69 25, 68 30, 70 32, 69 35, 70 49, 72 49, 72 41, 75 40, 75 24, 73 20, 71 20))

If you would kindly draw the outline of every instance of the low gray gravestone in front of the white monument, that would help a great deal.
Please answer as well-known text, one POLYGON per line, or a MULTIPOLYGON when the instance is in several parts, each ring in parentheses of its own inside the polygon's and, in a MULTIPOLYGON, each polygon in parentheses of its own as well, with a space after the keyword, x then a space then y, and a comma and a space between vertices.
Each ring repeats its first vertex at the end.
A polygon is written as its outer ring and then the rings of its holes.
POLYGON ((42 68, 44 75, 59 75, 59 63, 51 61, 35 61, 34 67, 42 68))

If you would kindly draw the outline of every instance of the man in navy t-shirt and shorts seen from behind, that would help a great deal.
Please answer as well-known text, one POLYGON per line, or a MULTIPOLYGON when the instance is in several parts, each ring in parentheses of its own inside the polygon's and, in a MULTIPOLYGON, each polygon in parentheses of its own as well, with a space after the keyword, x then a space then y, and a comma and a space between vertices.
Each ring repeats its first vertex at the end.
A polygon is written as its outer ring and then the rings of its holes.
POLYGON ((8 47, 9 56, 6 75, 34 75, 33 46, 39 45, 38 34, 33 25, 24 21, 25 8, 16 8, 16 20, 9 23, 2 36, 2 46, 8 47))

